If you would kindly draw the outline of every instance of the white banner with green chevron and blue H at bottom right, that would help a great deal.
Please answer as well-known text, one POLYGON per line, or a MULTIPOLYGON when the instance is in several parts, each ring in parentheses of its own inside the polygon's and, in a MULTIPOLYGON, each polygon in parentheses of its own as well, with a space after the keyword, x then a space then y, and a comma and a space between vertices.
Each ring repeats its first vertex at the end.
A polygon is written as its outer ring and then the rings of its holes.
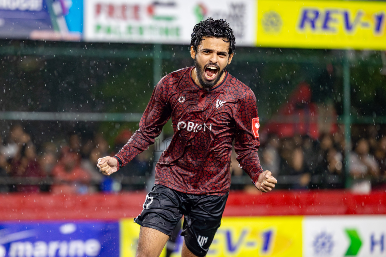
POLYGON ((305 216, 303 257, 386 256, 386 215, 305 216))

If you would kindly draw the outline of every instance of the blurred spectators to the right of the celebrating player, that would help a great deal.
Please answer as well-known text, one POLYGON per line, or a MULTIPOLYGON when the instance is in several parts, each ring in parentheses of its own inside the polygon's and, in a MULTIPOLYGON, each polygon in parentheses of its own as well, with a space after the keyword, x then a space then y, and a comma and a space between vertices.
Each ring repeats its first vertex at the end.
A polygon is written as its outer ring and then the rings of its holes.
POLYGON ((367 133, 354 134, 351 146, 346 146, 343 128, 317 139, 270 135, 260 148, 262 168, 278 178, 278 188, 385 190, 386 135, 366 126, 367 133))

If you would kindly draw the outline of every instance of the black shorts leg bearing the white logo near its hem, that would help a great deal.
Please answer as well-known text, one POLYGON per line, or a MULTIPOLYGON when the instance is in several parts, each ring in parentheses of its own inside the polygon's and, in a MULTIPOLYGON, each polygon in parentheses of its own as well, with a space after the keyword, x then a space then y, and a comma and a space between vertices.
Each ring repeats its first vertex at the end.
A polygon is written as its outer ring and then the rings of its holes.
POLYGON ((220 227, 228 194, 193 195, 186 205, 183 232, 186 247, 196 256, 205 256, 220 227))

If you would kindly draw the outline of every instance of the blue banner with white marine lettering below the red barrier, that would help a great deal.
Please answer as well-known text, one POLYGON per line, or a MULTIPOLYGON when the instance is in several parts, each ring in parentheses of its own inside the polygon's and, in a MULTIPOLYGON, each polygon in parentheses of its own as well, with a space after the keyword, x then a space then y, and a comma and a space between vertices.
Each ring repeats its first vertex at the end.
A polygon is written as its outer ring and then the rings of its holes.
POLYGON ((31 256, 119 257, 119 223, 0 223, 0 257, 31 256))

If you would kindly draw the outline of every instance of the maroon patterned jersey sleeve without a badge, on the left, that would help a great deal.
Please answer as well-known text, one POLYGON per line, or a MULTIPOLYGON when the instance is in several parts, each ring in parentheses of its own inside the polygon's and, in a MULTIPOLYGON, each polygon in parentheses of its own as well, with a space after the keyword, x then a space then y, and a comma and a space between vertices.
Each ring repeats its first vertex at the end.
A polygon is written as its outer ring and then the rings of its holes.
POLYGON ((139 122, 139 129, 114 156, 118 161, 118 169, 149 148, 151 144, 154 144, 154 139, 159 136, 162 127, 170 118, 171 109, 167 102, 168 94, 165 87, 167 83, 166 77, 158 82, 139 122))

